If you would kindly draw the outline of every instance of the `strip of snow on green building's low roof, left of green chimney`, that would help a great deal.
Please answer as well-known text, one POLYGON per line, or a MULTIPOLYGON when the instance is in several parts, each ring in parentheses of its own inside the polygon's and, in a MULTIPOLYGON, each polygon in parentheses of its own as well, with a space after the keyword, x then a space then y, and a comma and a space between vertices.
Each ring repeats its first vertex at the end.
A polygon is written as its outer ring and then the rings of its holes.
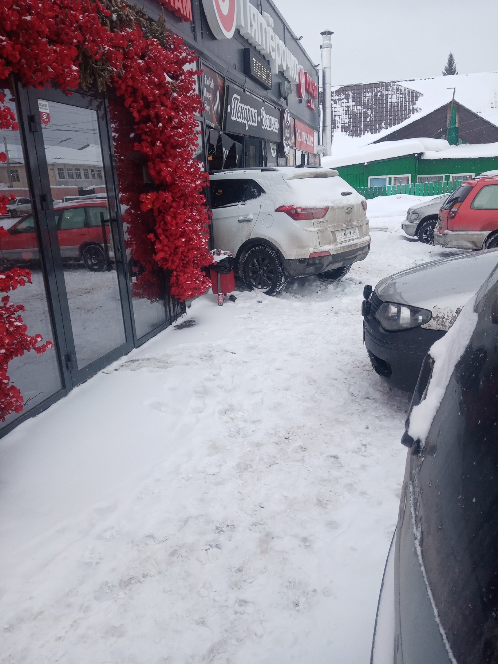
POLYGON ((369 163, 369 161, 380 161, 380 159, 393 159, 404 155, 421 155, 440 153, 448 150, 450 143, 437 138, 408 138, 403 141, 384 141, 373 143, 364 147, 351 147, 343 151, 335 150, 332 146, 331 157, 323 157, 321 165, 325 168, 339 168, 357 163, 369 163))

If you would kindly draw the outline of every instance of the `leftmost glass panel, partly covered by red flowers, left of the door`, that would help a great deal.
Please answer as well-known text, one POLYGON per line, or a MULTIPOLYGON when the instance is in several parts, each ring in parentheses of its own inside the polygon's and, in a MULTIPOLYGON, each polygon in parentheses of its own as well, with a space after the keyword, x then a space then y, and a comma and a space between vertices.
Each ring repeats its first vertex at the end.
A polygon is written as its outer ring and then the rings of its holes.
MULTIPOLYGON (((17 116, 15 101, 9 90, 0 90, 5 94, 5 104, 17 116)), ((25 311, 20 315, 27 325, 29 335, 41 334, 43 341, 54 341, 54 331, 48 309, 46 287, 39 260, 39 240, 37 221, 31 214, 31 189, 27 180, 25 158, 19 131, 0 130, 0 152, 7 156, 5 163, 0 161, 0 191, 5 195, 13 194, 19 205, 9 205, 7 215, 0 218, 0 226, 7 229, 7 237, 0 238, 0 270, 12 267, 31 270, 33 284, 26 284, 15 291, 5 293, 10 301, 23 304, 25 311), (12 177, 15 173, 15 177, 12 177)), ((4 294, 4 293, 3 293, 4 294)), ((62 380, 54 348, 42 355, 34 351, 16 357, 9 363, 8 375, 11 383, 21 390, 24 398, 23 413, 38 406, 62 388, 62 380)), ((10 424, 19 415, 12 414, 5 422, 0 422, 0 429, 10 424)))

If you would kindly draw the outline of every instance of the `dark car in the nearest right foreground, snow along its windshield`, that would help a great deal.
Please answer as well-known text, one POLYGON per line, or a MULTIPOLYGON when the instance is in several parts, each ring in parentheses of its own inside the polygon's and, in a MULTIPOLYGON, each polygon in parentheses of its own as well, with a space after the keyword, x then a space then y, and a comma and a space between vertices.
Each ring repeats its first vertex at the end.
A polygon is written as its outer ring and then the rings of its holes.
POLYGON ((498 268, 420 373, 371 664, 497 661, 497 301, 498 268))

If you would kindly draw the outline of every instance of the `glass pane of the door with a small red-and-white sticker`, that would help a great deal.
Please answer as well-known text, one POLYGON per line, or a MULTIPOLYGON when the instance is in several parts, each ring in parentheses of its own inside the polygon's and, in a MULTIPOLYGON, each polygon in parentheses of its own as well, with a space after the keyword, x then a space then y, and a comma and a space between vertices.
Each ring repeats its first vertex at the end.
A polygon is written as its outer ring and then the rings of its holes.
MULTIPOLYGON (((83 165, 102 177, 102 147, 96 111, 47 102, 50 124, 42 127, 52 197, 74 193, 56 183, 57 163, 70 163, 68 178, 81 175, 83 165)), ((78 189, 76 189, 78 193, 78 189)), ((54 205, 64 281, 78 369, 125 343, 125 331, 106 187, 54 205), (99 195, 92 199, 92 195, 99 195), (97 203, 98 201, 98 203, 97 203), (100 207, 100 225, 90 224, 90 208, 100 207)), ((94 214, 94 212, 92 212, 94 214)))

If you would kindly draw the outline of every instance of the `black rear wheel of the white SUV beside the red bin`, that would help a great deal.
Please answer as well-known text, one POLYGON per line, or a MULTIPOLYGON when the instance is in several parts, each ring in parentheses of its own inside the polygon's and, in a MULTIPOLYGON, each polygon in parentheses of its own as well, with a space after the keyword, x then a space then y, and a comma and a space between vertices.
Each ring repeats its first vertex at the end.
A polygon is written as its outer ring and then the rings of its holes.
POLYGON ((284 266, 277 252, 263 244, 248 250, 242 260, 242 279, 249 290, 256 288, 266 295, 280 293, 286 285, 284 266))

